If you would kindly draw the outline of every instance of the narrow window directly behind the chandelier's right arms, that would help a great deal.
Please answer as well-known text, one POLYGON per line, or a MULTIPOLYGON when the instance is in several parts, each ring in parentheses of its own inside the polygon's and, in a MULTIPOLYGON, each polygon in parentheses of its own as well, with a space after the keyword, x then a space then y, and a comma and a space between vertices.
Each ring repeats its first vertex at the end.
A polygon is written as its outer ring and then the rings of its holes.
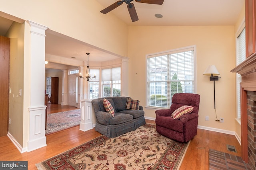
POLYGON ((90 69, 92 75, 95 74, 96 78, 92 78, 89 81, 89 99, 99 98, 99 85, 100 85, 100 70, 99 69, 90 69))

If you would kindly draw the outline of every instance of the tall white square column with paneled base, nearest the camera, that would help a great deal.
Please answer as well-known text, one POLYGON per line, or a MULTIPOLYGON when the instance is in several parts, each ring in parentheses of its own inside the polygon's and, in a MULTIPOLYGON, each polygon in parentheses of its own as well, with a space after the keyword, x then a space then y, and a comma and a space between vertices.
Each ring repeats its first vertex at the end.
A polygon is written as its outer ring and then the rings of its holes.
MULTIPOLYGON (((44 105, 45 30, 48 27, 28 21, 31 29, 30 107, 28 152, 46 146, 44 105)), ((27 75, 29 76, 29 75, 27 75)))

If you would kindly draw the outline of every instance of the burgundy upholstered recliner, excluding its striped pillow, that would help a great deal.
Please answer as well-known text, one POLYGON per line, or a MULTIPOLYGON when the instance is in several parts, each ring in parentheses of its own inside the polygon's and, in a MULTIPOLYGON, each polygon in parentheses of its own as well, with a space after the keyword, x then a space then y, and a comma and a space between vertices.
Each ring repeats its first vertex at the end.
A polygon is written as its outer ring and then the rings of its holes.
POLYGON ((174 94, 170 109, 156 110, 156 131, 181 143, 190 141, 197 133, 199 103, 199 94, 174 94), (173 119, 172 112, 184 105, 193 106, 193 111, 173 119))

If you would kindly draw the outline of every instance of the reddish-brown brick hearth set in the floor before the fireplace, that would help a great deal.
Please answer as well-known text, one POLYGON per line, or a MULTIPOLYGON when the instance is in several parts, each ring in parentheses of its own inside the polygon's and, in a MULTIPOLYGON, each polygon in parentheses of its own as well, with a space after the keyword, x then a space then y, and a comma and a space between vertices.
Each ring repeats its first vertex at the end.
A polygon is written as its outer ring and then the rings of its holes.
POLYGON ((240 156, 210 149, 209 170, 251 170, 240 156))

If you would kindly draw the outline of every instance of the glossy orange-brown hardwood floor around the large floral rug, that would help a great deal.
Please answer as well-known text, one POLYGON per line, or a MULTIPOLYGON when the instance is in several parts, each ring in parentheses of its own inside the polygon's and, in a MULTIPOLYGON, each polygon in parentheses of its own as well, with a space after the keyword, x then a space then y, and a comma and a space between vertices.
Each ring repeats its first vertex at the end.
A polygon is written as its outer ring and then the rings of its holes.
MULTIPOLYGON (((154 123, 152 120, 146 120, 146 122, 154 123)), ((83 132, 79 130, 79 126, 76 126, 47 135, 46 147, 22 154, 7 136, 3 136, 0 137, 0 160, 28 161, 28 170, 36 170, 35 164, 100 135, 94 129, 83 132)), ((209 149, 241 156, 241 146, 235 136, 198 129, 197 135, 190 141, 180 170, 208 170, 209 149), (235 146, 237 153, 228 151, 226 145, 235 146)))

